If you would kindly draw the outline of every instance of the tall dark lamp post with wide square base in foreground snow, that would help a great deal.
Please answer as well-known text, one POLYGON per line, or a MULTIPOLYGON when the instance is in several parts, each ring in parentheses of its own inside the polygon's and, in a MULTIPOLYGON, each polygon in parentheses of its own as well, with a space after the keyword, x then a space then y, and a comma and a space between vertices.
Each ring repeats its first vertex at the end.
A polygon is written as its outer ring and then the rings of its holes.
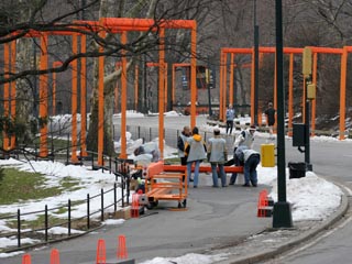
POLYGON ((293 227, 290 204, 286 201, 285 165, 285 97, 283 59, 283 7, 275 0, 276 16, 276 84, 277 84, 277 202, 274 204, 273 228, 293 227))

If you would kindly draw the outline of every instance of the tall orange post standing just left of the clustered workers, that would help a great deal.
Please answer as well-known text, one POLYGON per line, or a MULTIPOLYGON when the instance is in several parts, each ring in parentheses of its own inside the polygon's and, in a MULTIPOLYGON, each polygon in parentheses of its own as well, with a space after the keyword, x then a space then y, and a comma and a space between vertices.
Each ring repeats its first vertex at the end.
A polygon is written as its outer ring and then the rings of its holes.
POLYGON ((160 31, 158 45, 158 147, 161 151, 161 158, 164 157, 164 94, 165 94, 165 29, 160 31))

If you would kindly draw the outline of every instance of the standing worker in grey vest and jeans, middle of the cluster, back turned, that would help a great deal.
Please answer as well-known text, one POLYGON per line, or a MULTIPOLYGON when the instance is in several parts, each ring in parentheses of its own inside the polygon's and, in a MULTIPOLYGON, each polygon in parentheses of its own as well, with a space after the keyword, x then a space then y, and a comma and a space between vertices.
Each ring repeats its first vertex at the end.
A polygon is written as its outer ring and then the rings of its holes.
POLYGON ((219 187, 218 178, 221 178, 222 187, 227 187, 227 175, 223 164, 228 160, 227 141, 220 136, 220 130, 213 130, 213 138, 208 141, 208 161, 212 172, 212 187, 219 187), (218 174, 219 168, 219 174, 218 174))

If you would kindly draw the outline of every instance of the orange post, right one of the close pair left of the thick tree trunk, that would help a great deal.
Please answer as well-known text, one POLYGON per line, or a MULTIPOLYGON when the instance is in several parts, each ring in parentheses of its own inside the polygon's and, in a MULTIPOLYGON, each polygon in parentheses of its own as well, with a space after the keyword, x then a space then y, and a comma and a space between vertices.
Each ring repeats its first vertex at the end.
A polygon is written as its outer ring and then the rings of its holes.
MULTIPOLYGON (((87 36, 80 35, 80 53, 86 53, 87 36)), ((80 58, 80 156, 87 153, 87 58, 80 58)))

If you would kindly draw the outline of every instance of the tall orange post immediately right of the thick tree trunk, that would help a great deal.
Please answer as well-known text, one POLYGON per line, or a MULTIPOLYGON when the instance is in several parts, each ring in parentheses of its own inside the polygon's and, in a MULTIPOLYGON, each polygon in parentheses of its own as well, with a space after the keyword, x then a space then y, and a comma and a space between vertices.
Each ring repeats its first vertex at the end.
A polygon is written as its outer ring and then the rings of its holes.
MULTIPOLYGON (((128 33, 125 31, 121 34, 121 44, 125 45, 128 42, 128 33)), ((127 158, 127 101, 128 101, 128 58, 125 57, 125 50, 121 51, 122 73, 121 73, 121 158, 127 158)))

